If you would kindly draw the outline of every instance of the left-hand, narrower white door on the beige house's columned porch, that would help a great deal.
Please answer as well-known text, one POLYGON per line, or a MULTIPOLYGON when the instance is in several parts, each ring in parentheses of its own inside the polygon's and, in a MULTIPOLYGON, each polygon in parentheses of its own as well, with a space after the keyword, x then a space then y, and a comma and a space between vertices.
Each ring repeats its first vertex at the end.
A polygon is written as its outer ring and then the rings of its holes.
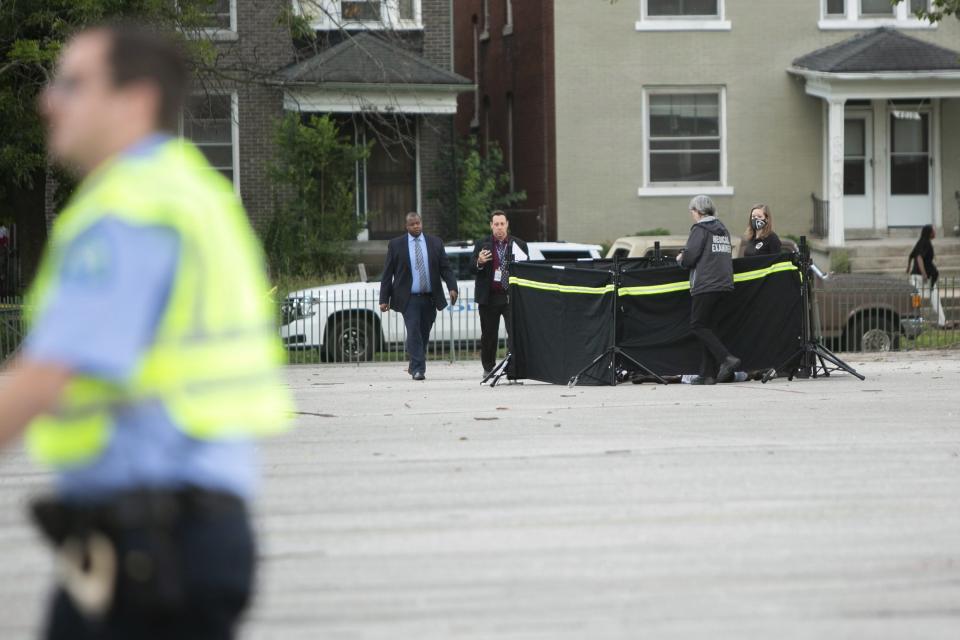
POLYGON ((873 116, 843 123, 843 218, 847 229, 873 228, 873 116))

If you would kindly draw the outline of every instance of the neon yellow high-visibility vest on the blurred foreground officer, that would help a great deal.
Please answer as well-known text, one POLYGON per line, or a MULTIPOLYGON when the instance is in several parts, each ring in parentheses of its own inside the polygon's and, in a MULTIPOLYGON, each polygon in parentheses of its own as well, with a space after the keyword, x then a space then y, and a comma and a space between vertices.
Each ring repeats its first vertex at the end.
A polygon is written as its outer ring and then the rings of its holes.
POLYGON ((150 153, 119 155, 84 180, 54 224, 28 295, 28 320, 57 296, 67 247, 106 216, 177 233, 167 307, 129 380, 78 375, 59 407, 33 421, 27 446, 34 457, 60 468, 89 464, 110 441, 113 414, 146 401, 162 402, 171 420, 199 439, 285 429, 293 406, 259 241, 233 185, 189 142, 170 139, 150 153))

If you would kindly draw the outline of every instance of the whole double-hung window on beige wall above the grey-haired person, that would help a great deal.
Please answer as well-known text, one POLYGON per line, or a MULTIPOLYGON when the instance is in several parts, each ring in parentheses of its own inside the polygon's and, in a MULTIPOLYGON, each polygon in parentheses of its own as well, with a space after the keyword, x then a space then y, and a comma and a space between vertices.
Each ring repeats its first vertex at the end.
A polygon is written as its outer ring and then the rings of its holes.
POLYGON ((725 195, 724 92, 657 89, 645 93, 646 186, 641 195, 725 195), (703 189, 703 187, 716 187, 703 189))

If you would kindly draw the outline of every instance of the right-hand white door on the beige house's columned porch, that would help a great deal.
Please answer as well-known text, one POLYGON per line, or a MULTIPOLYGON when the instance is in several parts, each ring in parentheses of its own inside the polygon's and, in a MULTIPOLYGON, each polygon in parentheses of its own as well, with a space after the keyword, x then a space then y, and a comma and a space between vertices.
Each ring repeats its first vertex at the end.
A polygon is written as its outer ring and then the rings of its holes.
POLYGON ((891 227, 920 227, 933 222, 930 170, 930 114, 898 111, 890 115, 891 227))

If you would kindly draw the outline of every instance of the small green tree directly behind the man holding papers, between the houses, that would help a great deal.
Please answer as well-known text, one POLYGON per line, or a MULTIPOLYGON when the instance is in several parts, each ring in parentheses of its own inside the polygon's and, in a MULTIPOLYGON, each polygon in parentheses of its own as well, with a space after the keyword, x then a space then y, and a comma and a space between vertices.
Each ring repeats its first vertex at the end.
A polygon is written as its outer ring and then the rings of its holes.
POLYGON ((443 167, 453 167, 456 190, 432 192, 447 211, 455 211, 457 234, 463 239, 476 239, 490 231, 490 212, 506 209, 527 199, 524 191, 510 191, 510 173, 504 169, 503 153, 496 142, 487 144, 486 155, 480 153, 476 136, 460 140, 453 153, 440 160, 443 167), (454 201, 453 198, 456 198, 454 201))

